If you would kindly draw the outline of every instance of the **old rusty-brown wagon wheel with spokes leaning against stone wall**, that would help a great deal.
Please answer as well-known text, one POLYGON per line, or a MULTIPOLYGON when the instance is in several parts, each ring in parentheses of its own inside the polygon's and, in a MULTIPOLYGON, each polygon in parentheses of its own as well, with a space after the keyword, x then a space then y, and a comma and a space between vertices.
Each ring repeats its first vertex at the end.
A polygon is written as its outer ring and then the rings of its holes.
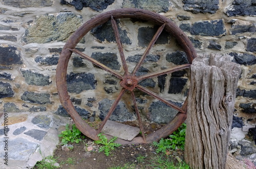
MULTIPOLYGON (((69 38, 67 43, 62 49, 62 52, 60 54, 59 62, 57 65, 57 70, 56 70, 56 85, 58 89, 58 94, 59 94, 59 99, 62 104, 62 106, 68 111, 70 116, 73 118, 77 128, 86 136, 96 140, 98 139, 97 134, 101 132, 102 128, 104 127, 106 121, 110 118, 112 112, 116 108, 118 102, 120 101, 122 95, 125 93, 125 91, 130 91, 131 97, 133 100, 134 104, 134 109, 137 115, 137 119, 139 121, 139 128, 141 130, 142 136, 137 136, 133 138, 133 140, 128 141, 124 139, 118 138, 116 140, 117 143, 120 144, 138 144, 138 143, 151 143, 155 140, 159 140, 162 137, 166 137, 169 134, 173 133, 186 119, 186 111, 187 111, 187 100, 185 100, 184 104, 182 107, 176 106, 175 104, 167 101, 166 99, 158 96, 156 93, 148 90, 147 88, 144 88, 138 84, 138 81, 150 77, 156 77, 159 75, 163 75, 166 73, 172 73, 175 71, 187 69, 190 67, 191 62, 193 61, 194 58, 197 57, 196 51, 191 44, 190 40, 187 38, 187 36, 179 29, 179 27, 169 19, 156 14, 154 12, 146 11, 146 10, 139 10, 139 9, 119 9, 119 10, 114 10, 114 11, 109 11, 106 13, 102 13, 93 19, 87 21, 84 23, 82 26, 79 27, 79 29, 69 38), (117 22, 115 19, 120 19, 120 18, 138 18, 138 19, 143 19, 143 20, 148 20, 153 22, 156 25, 160 25, 159 29, 157 30, 156 34, 154 35, 153 39, 151 40, 150 44, 147 46, 146 50, 144 51, 140 61, 137 63, 135 66, 133 72, 129 72, 125 57, 124 57, 124 52, 123 52, 123 47, 121 44, 120 36, 118 33, 117 29, 117 22), (124 74, 119 74, 116 71, 112 70, 109 67, 106 67, 105 65, 101 64, 100 62, 96 61, 95 59, 89 57, 88 55, 80 52, 77 50, 75 47, 78 44, 78 42, 81 40, 81 38, 86 35, 90 30, 92 30, 94 27, 105 23, 106 21, 111 20, 111 24, 114 30, 114 34, 116 37, 116 42, 122 62, 122 66, 124 69, 124 74), (148 52, 150 52, 152 46, 156 42, 157 38, 161 34, 161 32, 165 30, 169 34, 173 35, 177 41, 180 43, 181 47, 185 51, 187 55, 187 59, 189 64, 184 64, 184 65, 179 65, 174 68, 168 68, 164 69, 160 72, 155 72, 155 73, 149 73, 146 75, 142 76, 136 76, 135 73, 138 71, 140 66, 142 65, 143 60, 146 58, 148 52), (122 90, 118 97, 116 98, 115 102, 111 106, 108 114, 105 116, 104 120, 102 121, 100 127, 96 130, 89 126, 77 113, 75 110, 71 100, 70 96, 68 94, 67 90, 67 82, 66 82, 66 76, 67 76, 67 68, 68 68, 68 62, 70 60, 71 54, 76 53, 78 54, 81 58, 84 58, 94 65, 104 69, 105 71, 113 74, 117 78, 120 79, 120 86, 122 87, 122 90), (158 129, 157 131, 147 134, 144 134, 143 131, 143 124, 139 115, 139 110, 138 106, 136 104, 136 98, 134 94, 134 90, 140 90, 148 95, 151 95, 155 97, 156 99, 162 101, 163 103, 167 104, 170 107, 173 107, 177 109, 179 112, 175 116, 175 118, 170 121, 168 124, 163 126, 162 128, 158 129)), ((110 135, 106 136, 110 137, 110 135)))

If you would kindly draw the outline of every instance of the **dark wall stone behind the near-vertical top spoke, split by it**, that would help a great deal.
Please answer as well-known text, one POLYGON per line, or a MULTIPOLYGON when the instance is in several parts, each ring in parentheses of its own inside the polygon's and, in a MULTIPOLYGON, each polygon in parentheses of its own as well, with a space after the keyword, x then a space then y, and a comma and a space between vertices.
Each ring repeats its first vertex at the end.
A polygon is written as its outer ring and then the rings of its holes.
MULTIPOLYGON (((121 30, 119 26, 120 21, 117 20, 118 33, 123 44, 132 44, 130 38, 127 36, 126 30, 121 30)), ((94 29, 91 30, 91 33, 101 42, 105 40, 109 42, 116 42, 116 37, 114 30, 111 24, 111 21, 107 21, 94 29)))

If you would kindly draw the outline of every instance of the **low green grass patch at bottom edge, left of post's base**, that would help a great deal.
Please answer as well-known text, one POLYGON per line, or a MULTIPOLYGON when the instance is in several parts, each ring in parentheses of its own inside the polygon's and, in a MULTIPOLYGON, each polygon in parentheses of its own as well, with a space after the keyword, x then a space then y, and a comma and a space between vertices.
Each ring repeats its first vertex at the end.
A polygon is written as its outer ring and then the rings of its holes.
POLYGON ((172 160, 168 158, 163 158, 157 156, 151 166, 157 169, 189 169, 189 165, 187 165, 184 161, 179 161, 178 163, 174 163, 172 160))

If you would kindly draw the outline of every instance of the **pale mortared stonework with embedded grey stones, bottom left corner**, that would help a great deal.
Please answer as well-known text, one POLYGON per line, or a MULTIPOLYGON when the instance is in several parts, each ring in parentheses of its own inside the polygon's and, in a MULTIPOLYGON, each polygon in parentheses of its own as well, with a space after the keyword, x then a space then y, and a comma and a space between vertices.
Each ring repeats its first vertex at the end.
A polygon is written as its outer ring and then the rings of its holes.
POLYGON ((44 115, 41 112, 8 112, 5 116, 0 113, 0 168, 33 168, 37 161, 53 155, 59 143, 58 127, 67 123, 70 124, 70 118, 47 111, 44 115), (4 128, 4 123, 8 128, 4 128))

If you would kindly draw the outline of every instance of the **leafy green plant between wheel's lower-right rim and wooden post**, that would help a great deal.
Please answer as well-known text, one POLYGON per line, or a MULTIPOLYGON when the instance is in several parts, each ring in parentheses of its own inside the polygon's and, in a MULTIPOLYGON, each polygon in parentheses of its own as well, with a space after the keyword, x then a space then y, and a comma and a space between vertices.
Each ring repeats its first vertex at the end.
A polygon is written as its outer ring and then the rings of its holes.
POLYGON ((153 145, 157 147, 156 152, 165 153, 166 150, 181 149, 184 150, 185 145, 185 132, 186 124, 183 123, 173 134, 169 135, 170 138, 161 138, 159 142, 153 142, 153 145))

